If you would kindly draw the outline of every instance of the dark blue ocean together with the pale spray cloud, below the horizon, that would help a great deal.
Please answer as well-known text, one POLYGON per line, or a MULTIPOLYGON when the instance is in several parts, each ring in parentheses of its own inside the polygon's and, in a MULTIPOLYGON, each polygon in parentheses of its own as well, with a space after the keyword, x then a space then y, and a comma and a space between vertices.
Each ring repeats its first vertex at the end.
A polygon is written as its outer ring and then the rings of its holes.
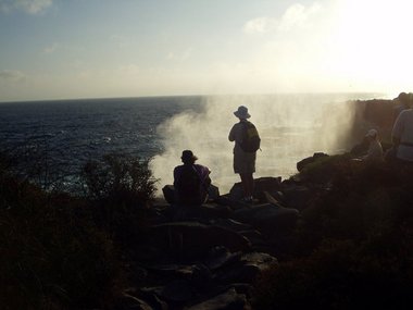
POLYGON ((191 149, 222 193, 238 182, 228 132, 247 106, 262 137, 259 176, 289 177, 315 151, 340 152, 352 112, 346 102, 376 94, 185 96, 0 103, 0 149, 25 154, 32 166, 77 175, 92 159, 125 153, 150 160, 159 188, 172 183, 180 153, 191 149))

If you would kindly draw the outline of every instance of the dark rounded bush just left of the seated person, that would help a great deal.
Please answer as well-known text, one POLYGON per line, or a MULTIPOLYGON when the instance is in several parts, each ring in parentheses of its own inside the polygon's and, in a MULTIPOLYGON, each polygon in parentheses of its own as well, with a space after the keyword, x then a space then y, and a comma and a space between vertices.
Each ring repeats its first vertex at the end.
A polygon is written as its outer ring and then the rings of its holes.
POLYGON ((122 244, 136 243, 147 224, 155 183, 148 161, 123 154, 88 162, 82 173, 97 223, 122 244))

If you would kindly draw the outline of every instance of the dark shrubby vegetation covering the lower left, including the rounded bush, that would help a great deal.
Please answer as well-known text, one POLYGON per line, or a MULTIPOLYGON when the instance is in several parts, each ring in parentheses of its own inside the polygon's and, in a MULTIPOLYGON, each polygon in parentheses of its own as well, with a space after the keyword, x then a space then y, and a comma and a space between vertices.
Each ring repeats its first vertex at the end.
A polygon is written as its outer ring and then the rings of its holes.
POLYGON ((153 198, 147 162, 90 161, 79 173, 84 195, 45 190, 15 163, 1 153, 0 308, 110 309, 127 285, 126 241, 153 198))

